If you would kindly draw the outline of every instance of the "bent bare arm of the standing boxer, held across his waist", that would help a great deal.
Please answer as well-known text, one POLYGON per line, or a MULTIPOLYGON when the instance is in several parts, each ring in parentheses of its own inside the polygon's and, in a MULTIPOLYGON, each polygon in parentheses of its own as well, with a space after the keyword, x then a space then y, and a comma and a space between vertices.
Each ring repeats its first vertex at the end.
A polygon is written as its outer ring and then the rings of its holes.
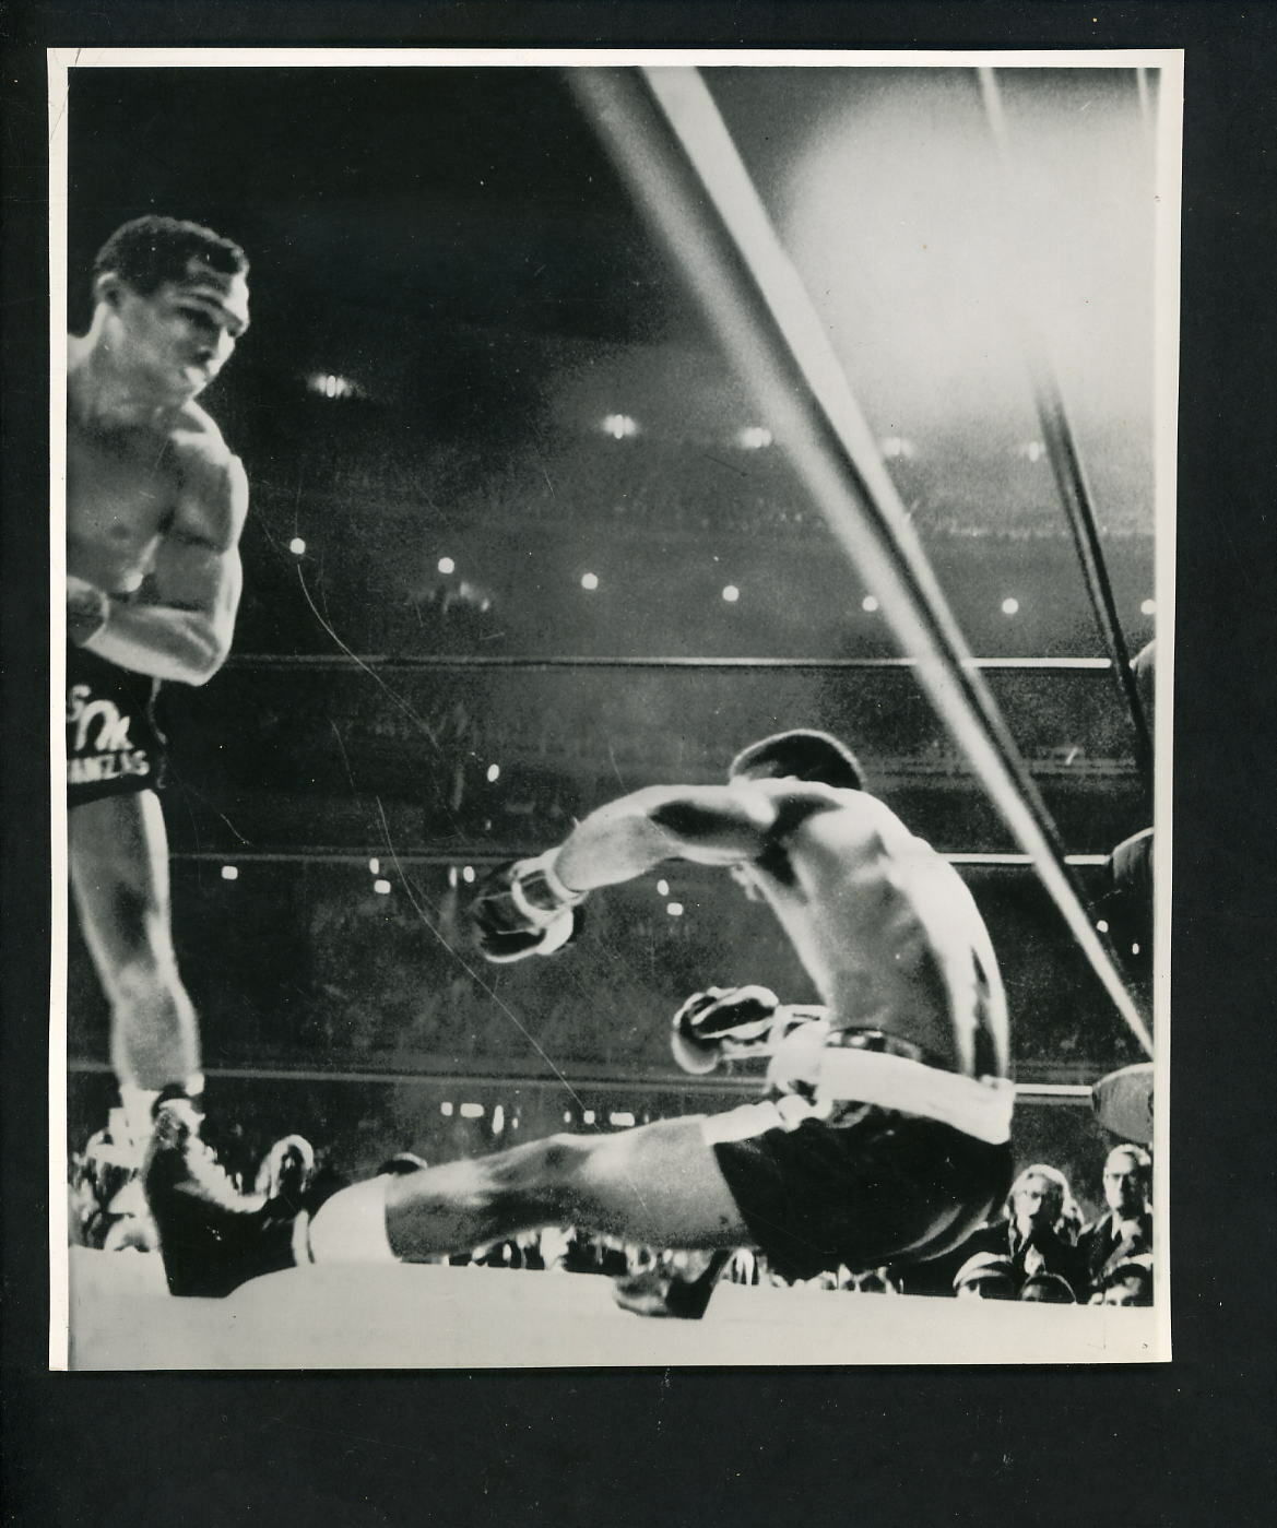
POLYGON ((243 590, 249 487, 238 457, 191 454, 173 523, 139 604, 112 601, 84 646, 121 668, 203 685, 226 662, 243 590))

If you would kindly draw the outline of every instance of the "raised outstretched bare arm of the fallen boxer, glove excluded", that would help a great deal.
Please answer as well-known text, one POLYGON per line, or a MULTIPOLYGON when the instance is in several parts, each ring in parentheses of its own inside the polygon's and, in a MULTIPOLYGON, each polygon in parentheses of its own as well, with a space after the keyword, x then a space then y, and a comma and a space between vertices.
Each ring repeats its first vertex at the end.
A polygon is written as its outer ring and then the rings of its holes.
POLYGON ((652 785, 573 828, 554 871, 573 891, 634 880, 661 860, 733 865, 758 857, 774 827, 771 799, 747 784, 652 785))

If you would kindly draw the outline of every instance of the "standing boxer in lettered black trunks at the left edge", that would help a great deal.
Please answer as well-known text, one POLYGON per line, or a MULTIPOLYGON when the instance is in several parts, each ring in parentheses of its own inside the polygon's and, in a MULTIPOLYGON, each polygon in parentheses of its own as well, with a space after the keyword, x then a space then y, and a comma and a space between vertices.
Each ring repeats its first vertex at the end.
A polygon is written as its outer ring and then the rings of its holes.
POLYGON ((196 223, 125 223, 67 351, 70 882, 137 1166, 160 1091, 197 1097, 203 1082, 170 931, 153 701, 160 680, 206 683, 231 648, 247 481, 196 399, 247 329, 246 272, 196 223))

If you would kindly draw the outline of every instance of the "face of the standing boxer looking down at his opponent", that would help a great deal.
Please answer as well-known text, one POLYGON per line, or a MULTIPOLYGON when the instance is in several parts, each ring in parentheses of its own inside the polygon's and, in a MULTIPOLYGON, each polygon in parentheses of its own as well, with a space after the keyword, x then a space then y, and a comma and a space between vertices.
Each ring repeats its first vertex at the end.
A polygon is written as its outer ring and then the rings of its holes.
POLYGON ((104 277, 99 296, 112 309, 110 348, 165 399, 199 396, 231 359, 249 324, 249 289, 192 258, 186 277, 142 293, 104 277))

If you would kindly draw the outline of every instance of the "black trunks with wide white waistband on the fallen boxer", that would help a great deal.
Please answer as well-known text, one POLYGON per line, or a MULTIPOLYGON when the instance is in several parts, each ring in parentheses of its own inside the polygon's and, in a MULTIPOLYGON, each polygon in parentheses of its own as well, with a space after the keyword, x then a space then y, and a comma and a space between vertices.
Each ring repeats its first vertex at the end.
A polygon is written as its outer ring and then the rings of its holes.
POLYGON ((849 1091, 822 1102, 817 1089, 813 1099, 787 1094, 704 1122, 741 1218, 785 1279, 840 1264, 862 1273, 939 1258, 987 1221, 1011 1186, 1010 1083, 959 1077, 913 1056, 843 1051, 836 1060, 851 1063, 848 1089, 884 1102, 858 1102, 849 1091), (895 1106, 910 1102, 927 1112, 895 1106))

